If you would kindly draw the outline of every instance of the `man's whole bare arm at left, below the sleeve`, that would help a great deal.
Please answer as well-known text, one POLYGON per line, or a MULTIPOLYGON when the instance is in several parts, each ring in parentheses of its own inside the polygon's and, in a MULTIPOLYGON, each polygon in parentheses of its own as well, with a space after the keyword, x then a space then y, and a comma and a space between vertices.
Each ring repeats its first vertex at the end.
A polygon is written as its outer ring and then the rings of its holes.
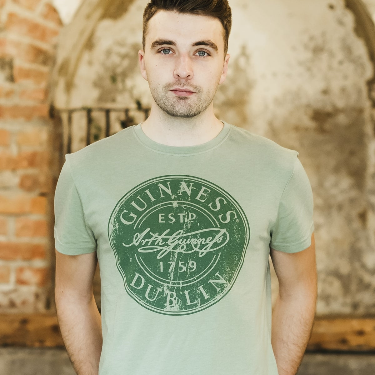
POLYGON ((66 350, 78 375, 98 375, 102 350, 101 316, 93 295, 96 253, 56 251, 55 301, 66 350))

